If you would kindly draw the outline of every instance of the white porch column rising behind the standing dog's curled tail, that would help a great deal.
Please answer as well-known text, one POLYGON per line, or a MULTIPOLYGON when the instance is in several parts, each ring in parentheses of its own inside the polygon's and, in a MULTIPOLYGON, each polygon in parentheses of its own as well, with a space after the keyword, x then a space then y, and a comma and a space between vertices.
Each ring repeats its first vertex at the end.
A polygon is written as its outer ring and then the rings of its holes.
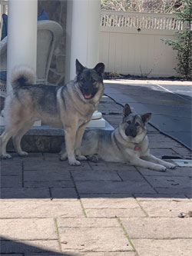
POLYGON ((28 65, 36 71, 37 16, 38 0, 8 0, 7 91, 16 65, 28 65))

